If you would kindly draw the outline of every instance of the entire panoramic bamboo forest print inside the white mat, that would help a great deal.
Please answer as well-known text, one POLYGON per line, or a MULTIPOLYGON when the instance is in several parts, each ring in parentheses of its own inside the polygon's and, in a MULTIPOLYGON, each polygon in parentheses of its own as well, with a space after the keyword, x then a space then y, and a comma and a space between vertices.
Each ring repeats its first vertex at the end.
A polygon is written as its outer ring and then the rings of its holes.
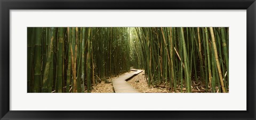
POLYGON ((28 93, 228 93, 228 27, 28 27, 28 93))

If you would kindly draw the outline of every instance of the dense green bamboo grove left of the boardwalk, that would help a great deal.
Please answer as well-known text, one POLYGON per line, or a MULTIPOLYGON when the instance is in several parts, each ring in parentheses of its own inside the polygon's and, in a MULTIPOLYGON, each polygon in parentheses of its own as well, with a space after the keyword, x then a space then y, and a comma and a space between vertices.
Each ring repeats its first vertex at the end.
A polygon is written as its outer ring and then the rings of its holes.
POLYGON ((129 28, 28 28, 27 91, 91 92, 130 69, 129 28))

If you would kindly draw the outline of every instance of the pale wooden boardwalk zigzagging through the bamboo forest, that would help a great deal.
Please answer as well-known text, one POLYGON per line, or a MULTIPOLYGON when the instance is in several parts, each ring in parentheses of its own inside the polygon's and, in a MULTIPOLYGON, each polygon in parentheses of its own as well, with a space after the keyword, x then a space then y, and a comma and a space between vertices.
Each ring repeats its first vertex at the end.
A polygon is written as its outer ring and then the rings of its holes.
POLYGON ((121 75, 113 79, 113 86, 116 93, 139 93, 139 91, 135 90, 129 83, 126 82, 126 80, 138 75, 142 72, 142 70, 131 70, 135 72, 127 75, 121 75))

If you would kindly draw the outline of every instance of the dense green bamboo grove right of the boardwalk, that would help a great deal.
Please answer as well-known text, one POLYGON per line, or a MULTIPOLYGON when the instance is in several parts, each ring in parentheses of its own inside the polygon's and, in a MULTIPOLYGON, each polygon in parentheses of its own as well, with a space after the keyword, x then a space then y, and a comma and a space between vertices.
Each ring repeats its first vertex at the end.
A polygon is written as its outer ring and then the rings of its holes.
POLYGON ((228 28, 135 28, 148 85, 228 92, 228 28))

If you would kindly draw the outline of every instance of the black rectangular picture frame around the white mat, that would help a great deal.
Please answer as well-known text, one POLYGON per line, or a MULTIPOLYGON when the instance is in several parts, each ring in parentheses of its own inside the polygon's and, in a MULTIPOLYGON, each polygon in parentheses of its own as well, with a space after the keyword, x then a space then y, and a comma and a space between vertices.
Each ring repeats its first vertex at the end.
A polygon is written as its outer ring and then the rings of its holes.
MULTIPOLYGON (((0 0, 0 119, 255 119, 255 0, 0 0), (247 10, 246 111, 12 111, 10 10, 196 9, 247 10)), ((243 40, 242 40, 243 41, 243 40)))

